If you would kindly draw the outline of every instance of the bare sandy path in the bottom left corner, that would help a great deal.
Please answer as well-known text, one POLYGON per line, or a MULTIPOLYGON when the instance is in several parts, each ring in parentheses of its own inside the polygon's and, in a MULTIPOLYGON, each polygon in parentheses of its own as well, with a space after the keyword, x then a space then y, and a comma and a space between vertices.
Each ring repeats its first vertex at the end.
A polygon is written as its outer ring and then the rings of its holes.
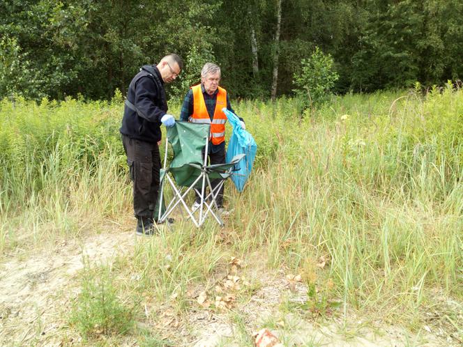
MULTIPOLYGON (((105 262, 133 248, 132 232, 102 233, 82 242, 66 241, 27 259, 0 264, 0 345, 59 345, 62 313, 77 293, 75 277, 84 259, 105 262)), ((22 257, 22 256, 21 256, 22 257)))

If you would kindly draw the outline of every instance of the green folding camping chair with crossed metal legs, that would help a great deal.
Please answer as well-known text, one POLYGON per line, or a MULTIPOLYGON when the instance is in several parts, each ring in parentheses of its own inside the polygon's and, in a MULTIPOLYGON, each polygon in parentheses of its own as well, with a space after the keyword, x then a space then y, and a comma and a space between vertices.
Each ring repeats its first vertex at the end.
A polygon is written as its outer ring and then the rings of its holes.
POLYGON ((167 128, 164 164, 160 173, 160 200, 165 196, 166 181, 172 187, 174 197, 165 207, 165 212, 159 208, 158 222, 164 222, 177 206, 185 209, 195 226, 202 226, 210 214, 221 226, 224 224, 218 213, 216 202, 220 187, 232 174, 235 164, 245 155, 240 154, 225 164, 207 164, 209 135, 211 125, 177 121, 167 128), (168 144, 171 144, 174 157, 167 167, 168 144), (172 176, 172 177, 171 177, 172 176), (211 180, 219 180, 213 188, 211 180), (206 195, 206 189, 209 192, 206 195), (188 192, 194 190, 201 198, 199 208, 192 210, 185 202, 188 192))

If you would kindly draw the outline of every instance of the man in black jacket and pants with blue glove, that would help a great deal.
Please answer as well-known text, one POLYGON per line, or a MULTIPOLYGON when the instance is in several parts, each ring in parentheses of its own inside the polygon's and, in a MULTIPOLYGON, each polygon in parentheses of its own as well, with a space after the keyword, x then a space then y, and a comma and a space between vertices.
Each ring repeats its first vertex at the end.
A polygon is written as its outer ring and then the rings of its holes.
POLYGON ((167 114, 164 84, 174 82, 182 68, 181 58, 169 54, 158 65, 144 65, 128 86, 120 131, 133 182, 137 235, 153 235, 154 232, 161 167, 160 125, 175 124, 174 116, 167 114))

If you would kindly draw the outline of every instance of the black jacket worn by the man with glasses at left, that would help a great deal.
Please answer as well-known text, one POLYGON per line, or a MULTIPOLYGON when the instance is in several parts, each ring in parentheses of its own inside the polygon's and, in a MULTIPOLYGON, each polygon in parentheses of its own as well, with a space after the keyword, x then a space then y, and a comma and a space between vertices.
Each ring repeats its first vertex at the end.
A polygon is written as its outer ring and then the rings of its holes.
POLYGON ((131 139, 158 142, 161 118, 167 113, 164 82, 153 65, 144 65, 128 86, 121 134, 131 139), (135 109, 136 111, 135 111, 135 109))

